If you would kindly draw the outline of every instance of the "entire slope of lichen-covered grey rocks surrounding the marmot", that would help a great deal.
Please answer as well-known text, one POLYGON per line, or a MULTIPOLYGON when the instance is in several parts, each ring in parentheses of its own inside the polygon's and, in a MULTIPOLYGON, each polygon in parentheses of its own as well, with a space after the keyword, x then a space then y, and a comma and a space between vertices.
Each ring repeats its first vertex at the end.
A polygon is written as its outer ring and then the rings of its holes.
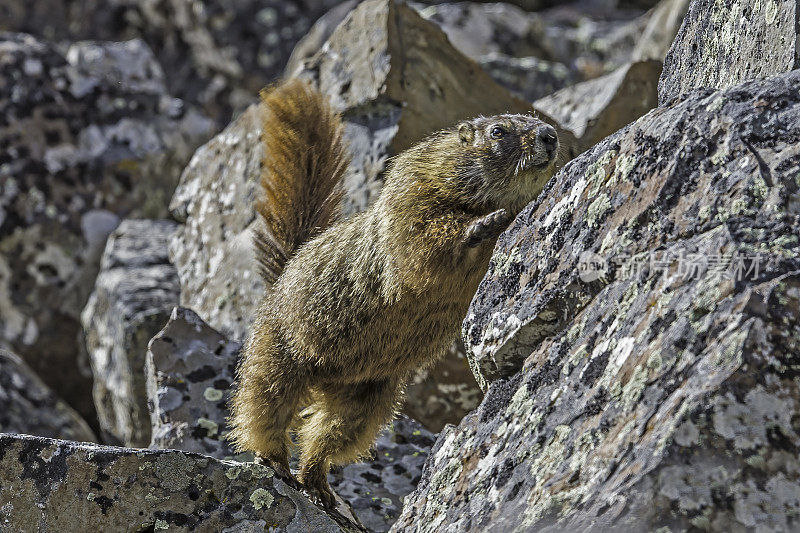
POLYGON ((513 4, 0 6, 0 432, 37 435, 0 530, 797 529, 794 2, 513 4), (460 118, 571 149, 335 511, 225 441, 284 69, 343 115, 345 216, 460 118))

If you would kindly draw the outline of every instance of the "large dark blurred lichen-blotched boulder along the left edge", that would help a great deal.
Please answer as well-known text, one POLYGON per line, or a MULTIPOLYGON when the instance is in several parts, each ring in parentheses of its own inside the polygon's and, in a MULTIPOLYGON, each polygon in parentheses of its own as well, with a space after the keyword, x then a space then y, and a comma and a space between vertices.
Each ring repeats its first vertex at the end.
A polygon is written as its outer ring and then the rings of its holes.
POLYGON ((62 55, 8 33, 0 117, 0 344, 90 420, 79 315, 105 238, 121 216, 165 214, 178 168, 212 124, 167 92, 141 41, 73 43, 62 55))

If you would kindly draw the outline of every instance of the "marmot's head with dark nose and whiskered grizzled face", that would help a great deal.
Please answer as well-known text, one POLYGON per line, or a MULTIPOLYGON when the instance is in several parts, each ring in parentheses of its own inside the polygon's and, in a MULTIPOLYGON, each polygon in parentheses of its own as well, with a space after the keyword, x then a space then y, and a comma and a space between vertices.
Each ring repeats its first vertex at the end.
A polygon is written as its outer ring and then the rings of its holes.
POLYGON ((555 128, 529 115, 478 117, 458 124, 464 148, 457 174, 491 207, 522 209, 555 172, 555 128))

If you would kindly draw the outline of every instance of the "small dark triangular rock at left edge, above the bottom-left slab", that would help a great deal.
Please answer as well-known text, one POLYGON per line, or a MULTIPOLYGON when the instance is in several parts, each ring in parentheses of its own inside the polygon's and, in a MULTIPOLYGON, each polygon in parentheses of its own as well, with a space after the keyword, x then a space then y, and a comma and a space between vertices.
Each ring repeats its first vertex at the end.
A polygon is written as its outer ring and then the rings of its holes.
POLYGON ((0 350, 0 433, 97 440, 78 413, 42 383, 22 359, 4 350, 0 350))

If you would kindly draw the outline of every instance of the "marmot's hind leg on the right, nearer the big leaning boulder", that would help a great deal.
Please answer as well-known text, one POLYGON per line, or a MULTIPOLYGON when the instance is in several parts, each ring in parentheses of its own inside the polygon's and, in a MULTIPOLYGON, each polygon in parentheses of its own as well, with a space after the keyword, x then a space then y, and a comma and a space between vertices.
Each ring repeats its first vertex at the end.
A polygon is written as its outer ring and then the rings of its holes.
POLYGON ((330 465, 363 457, 381 426, 391 420, 401 395, 397 380, 327 385, 315 391, 311 415, 298 431, 300 481, 324 505, 334 505, 327 480, 330 465))

